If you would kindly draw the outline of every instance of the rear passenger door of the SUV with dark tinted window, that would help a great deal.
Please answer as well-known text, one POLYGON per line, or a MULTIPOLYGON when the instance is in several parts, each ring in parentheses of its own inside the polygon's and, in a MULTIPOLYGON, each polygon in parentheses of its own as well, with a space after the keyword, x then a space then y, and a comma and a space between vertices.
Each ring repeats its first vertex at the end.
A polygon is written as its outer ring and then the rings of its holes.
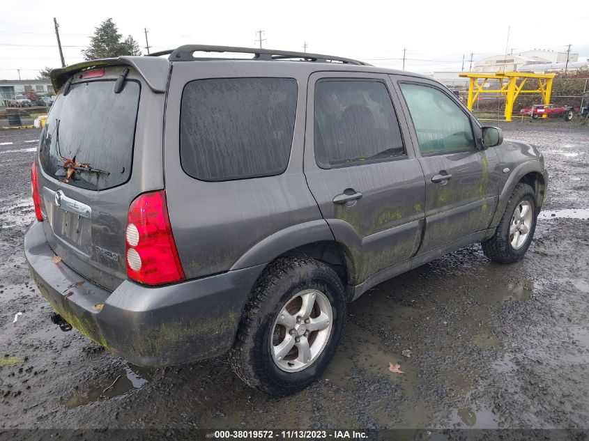
POLYGON ((387 75, 309 77, 305 176, 361 284, 417 251, 425 185, 387 75))

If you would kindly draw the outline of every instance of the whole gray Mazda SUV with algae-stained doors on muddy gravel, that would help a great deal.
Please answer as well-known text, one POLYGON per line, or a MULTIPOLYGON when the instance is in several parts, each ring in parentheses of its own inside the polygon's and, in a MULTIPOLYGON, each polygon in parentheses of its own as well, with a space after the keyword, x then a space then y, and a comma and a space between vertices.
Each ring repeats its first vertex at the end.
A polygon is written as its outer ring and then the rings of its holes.
POLYGON ((537 147, 421 75, 188 45, 51 77, 26 260, 55 323, 141 366, 227 353, 296 392, 348 302, 475 242, 517 261, 546 195, 537 147))

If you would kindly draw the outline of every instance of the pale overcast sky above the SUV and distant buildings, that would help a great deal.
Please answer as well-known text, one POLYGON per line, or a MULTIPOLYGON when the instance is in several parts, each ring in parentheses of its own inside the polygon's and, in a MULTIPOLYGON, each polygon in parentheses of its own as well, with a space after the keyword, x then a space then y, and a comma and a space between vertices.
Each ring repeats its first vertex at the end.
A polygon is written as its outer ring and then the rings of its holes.
POLYGON ((187 43, 257 46, 361 59, 406 70, 465 70, 474 60, 528 49, 589 58, 587 0, 493 3, 475 1, 26 1, 4 4, 0 18, 0 79, 33 79, 59 67, 53 17, 59 22, 66 64, 82 61, 94 29, 112 17, 123 36, 152 51, 187 43), (9 6, 10 5, 10 6, 9 6), (139 6, 141 5, 141 6, 139 6), (510 26, 509 42, 507 29, 510 26))

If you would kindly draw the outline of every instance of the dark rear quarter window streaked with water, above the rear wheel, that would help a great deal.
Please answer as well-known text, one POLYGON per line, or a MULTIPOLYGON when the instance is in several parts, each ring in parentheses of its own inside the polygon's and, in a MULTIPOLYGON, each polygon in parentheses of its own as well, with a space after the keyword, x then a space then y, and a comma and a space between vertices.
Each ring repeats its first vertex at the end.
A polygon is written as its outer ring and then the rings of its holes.
POLYGON ((180 118, 184 171, 208 181, 284 172, 297 90, 292 78, 199 79, 186 84, 180 118))

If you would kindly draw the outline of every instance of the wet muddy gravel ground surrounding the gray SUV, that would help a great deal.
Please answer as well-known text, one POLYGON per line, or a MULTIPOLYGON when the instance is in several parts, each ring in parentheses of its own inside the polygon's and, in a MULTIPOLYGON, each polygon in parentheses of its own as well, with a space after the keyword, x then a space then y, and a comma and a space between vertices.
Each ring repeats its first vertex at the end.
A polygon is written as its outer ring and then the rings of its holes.
POLYGON ((503 129, 551 176, 525 258, 476 245, 376 286, 321 380, 285 399, 223 357, 145 370, 53 325, 22 253, 39 132, 0 131, 0 428, 588 428, 589 127, 503 129))

